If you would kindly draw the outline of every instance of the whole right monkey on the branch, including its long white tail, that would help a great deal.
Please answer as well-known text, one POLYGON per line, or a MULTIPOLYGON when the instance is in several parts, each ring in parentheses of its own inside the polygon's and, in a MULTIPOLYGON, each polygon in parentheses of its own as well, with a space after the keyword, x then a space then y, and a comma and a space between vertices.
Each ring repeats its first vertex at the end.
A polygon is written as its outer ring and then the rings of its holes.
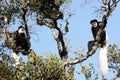
POLYGON ((92 50, 92 48, 95 46, 95 42, 98 42, 98 46, 100 47, 99 52, 99 64, 100 64, 100 70, 102 73, 102 76, 105 77, 108 71, 108 61, 107 61, 107 39, 108 36, 105 31, 105 27, 107 24, 107 19, 105 16, 103 16, 102 21, 98 22, 96 19, 91 20, 90 24, 92 25, 92 34, 94 40, 88 42, 88 53, 92 50), (103 31, 99 35, 99 39, 97 40, 97 34, 98 31, 102 29, 103 31))

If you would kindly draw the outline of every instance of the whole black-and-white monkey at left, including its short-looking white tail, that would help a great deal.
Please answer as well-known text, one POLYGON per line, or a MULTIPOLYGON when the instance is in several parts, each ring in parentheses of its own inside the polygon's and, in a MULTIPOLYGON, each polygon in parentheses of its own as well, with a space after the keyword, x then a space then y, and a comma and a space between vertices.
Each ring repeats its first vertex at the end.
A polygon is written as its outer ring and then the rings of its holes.
POLYGON ((27 37, 24 32, 25 28, 23 26, 20 26, 15 33, 15 45, 13 49, 15 66, 20 64, 19 52, 22 52, 23 55, 27 55, 30 51, 30 44, 28 43, 27 37))

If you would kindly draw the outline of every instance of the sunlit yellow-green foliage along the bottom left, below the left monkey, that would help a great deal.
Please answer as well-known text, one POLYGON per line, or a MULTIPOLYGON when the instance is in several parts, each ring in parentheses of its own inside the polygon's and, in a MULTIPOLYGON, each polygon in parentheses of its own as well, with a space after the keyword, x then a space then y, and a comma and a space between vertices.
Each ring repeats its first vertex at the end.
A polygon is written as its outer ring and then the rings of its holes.
POLYGON ((8 55, 0 58, 0 79, 2 80, 71 80, 65 72, 62 61, 55 55, 35 56, 29 54, 28 61, 21 60, 21 65, 12 68, 12 59, 8 55), (8 56, 9 57, 9 56, 8 56))

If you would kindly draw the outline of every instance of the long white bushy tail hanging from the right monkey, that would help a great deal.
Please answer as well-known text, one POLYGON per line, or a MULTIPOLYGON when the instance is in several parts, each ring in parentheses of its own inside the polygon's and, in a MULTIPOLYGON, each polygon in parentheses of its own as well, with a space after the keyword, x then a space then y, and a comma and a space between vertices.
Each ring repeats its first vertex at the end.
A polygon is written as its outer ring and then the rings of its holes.
POLYGON ((100 48, 99 64, 102 75, 105 77, 108 71, 107 47, 100 48))

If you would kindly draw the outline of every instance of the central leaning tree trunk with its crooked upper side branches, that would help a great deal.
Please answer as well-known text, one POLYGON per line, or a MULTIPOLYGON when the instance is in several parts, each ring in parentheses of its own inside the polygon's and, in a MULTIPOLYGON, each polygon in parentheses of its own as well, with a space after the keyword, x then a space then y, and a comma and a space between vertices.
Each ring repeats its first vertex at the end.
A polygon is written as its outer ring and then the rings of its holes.
POLYGON ((50 30, 53 34, 53 37, 54 37, 55 41, 57 42, 57 47, 58 47, 58 52, 59 52, 60 58, 64 61, 66 61, 67 57, 68 57, 68 49, 67 49, 67 45, 64 40, 64 35, 66 35, 66 33, 69 31, 68 30, 68 25, 69 25, 68 18, 66 19, 66 25, 64 27, 64 31, 61 28, 62 26, 57 25, 57 20, 63 19, 62 12, 59 12, 59 16, 56 16, 55 18, 51 18, 49 20, 46 20, 44 18, 41 21, 37 20, 38 24, 46 25, 47 27, 50 28, 50 30))

